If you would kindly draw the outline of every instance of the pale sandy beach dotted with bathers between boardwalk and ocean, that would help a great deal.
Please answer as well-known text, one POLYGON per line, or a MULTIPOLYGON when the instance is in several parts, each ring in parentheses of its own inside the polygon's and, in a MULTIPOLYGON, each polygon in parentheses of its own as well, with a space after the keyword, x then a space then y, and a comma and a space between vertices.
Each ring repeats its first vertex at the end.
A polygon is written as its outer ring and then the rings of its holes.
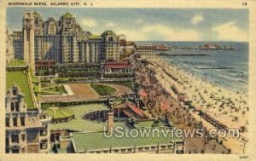
MULTIPOLYGON (((187 95, 189 101, 192 101, 192 106, 196 111, 201 110, 201 112, 207 113, 229 129, 245 129, 245 132, 240 133, 240 138, 224 141, 226 147, 236 144, 232 148, 233 152, 242 151, 241 145, 247 142, 247 112, 249 110, 247 95, 241 95, 202 78, 197 78, 182 68, 166 63, 159 56, 143 55, 142 60, 148 61, 147 66, 154 72, 157 83, 160 83, 166 92, 172 95, 174 101, 177 101, 177 93, 183 93, 187 95), (177 90, 176 92, 173 87, 177 90)), ((198 117, 198 114, 192 115, 198 121, 203 120, 198 117)), ((203 120, 203 125, 207 129, 212 128, 212 125, 206 120, 203 120)))

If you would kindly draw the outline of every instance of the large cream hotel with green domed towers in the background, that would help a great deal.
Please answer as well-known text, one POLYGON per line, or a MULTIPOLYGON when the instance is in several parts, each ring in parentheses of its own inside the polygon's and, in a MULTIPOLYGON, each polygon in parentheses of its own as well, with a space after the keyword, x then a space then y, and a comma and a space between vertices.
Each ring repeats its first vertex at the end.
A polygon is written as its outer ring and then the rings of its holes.
POLYGON ((25 62, 32 67, 35 61, 47 60, 99 64, 101 60, 119 60, 121 52, 119 36, 114 32, 108 30, 101 35, 84 32, 69 13, 63 14, 59 20, 49 17, 44 21, 41 14, 26 11, 22 32, 14 32, 12 37, 15 58, 23 55, 25 62))

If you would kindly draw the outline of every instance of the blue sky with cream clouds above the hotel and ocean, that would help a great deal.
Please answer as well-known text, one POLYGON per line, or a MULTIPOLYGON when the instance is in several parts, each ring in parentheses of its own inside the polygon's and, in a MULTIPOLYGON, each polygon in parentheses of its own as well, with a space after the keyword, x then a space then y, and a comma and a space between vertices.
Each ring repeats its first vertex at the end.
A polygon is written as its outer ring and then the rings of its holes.
MULTIPOLYGON (((29 9, 29 8, 27 8, 29 9)), ((22 29, 26 8, 8 8, 11 32, 22 29)), ((247 9, 74 9, 38 8, 44 20, 73 14, 84 31, 113 30, 131 41, 248 41, 247 9)))

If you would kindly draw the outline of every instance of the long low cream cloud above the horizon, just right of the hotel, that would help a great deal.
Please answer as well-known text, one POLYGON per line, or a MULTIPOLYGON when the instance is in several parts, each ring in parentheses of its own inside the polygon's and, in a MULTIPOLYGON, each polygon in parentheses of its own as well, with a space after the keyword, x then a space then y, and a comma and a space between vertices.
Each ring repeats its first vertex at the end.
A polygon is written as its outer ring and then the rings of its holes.
POLYGON ((200 32, 159 24, 142 26, 140 30, 119 28, 116 32, 125 34, 128 40, 133 41, 201 41, 200 32))

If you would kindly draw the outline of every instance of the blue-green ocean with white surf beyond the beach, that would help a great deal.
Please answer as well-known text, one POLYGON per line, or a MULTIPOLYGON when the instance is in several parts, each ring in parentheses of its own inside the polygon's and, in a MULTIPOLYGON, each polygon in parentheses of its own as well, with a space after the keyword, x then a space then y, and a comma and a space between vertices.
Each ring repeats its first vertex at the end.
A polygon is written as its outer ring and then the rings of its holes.
POLYGON ((160 43, 168 46, 198 47, 205 43, 216 43, 234 50, 171 49, 167 53, 203 53, 207 56, 162 56, 195 77, 203 78, 218 86, 247 94, 248 87, 248 43, 237 42, 137 42, 160 43), (219 69, 222 68, 222 69, 219 69))

